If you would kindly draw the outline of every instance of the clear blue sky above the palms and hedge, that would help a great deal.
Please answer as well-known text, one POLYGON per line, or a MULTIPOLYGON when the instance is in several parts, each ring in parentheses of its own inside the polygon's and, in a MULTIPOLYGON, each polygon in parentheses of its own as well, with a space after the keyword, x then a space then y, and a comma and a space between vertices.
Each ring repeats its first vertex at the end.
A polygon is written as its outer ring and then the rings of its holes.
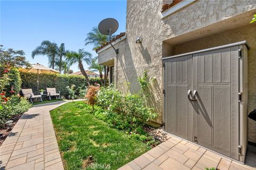
MULTIPOLYGON (((93 56, 93 45, 84 46, 86 33, 102 19, 115 18, 116 32, 125 31, 126 1, 2 1, 0 0, 0 44, 23 50, 27 60, 48 66, 46 56, 31 58, 43 40, 65 43, 66 49, 84 48, 93 56)), ((85 69, 87 65, 84 63, 85 69)), ((79 71, 77 65, 71 67, 79 71)))

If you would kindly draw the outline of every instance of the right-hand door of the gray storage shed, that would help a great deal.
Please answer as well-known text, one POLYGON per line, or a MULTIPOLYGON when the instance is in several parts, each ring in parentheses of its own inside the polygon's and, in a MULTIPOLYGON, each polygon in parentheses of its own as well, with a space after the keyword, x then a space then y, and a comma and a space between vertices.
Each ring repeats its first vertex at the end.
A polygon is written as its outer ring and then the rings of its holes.
POLYGON ((231 72, 238 74, 238 65, 231 63, 238 61, 238 55, 231 55, 230 47, 194 55, 193 73, 197 78, 193 79, 193 90, 197 90, 197 101, 192 102, 193 126, 199 145, 236 158, 238 145, 232 147, 231 143, 238 132, 232 131, 231 125, 238 126, 238 122, 231 115, 238 117, 239 112, 231 114, 231 101, 236 100, 238 105, 238 91, 233 92, 236 96, 231 95, 231 86, 238 84, 238 79, 231 80, 231 72), (236 150, 235 156, 231 155, 232 149, 236 150))

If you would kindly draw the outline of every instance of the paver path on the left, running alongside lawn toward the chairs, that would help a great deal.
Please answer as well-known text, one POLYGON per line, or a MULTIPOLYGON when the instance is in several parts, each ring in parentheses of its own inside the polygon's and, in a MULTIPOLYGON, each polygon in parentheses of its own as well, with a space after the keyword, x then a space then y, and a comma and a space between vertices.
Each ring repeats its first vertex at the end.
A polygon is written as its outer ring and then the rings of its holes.
POLYGON ((49 111, 67 103, 35 105, 15 124, 0 147, 0 169, 63 169, 49 111))

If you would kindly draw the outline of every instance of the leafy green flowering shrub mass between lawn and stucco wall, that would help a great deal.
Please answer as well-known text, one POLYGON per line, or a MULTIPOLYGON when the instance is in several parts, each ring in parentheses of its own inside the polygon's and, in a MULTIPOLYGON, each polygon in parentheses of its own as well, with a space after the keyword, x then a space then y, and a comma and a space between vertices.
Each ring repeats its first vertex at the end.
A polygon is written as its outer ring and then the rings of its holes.
POLYGON ((101 87, 97 94, 97 105, 100 106, 94 112, 95 116, 111 127, 124 130, 132 138, 141 140, 149 146, 156 141, 143 129, 143 122, 153 120, 157 114, 153 108, 146 107, 145 99, 140 94, 123 95, 112 85, 101 87))

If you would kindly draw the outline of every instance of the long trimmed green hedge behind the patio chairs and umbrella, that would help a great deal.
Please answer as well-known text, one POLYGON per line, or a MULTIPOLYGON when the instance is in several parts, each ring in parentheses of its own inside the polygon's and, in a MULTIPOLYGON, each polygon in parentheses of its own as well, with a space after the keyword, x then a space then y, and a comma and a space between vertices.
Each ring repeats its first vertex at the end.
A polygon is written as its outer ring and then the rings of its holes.
MULTIPOLYGON (((32 89, 35 94, 37 94, 37 73, 26 73, 20 72, 21 77, 21 88, 22 89, 32 89)), ((103 79, 100 78, 91 78, 90 83, 99 83, 102 84, 103 79)), ((61 96, 67 97, 68 90, 67 86, 75 85, 75 90, 78 87, 82 87, 85 89, 87 87, 87 83, 85 78, 82 75, 65 75, 65 74, 49 74, 42 73, 39 74, 39 90, 46 88, 55 87, 57 91, 60 91, 61 96)), ((76 95, 78 94, 78 90, 76 90, 76 95)))

